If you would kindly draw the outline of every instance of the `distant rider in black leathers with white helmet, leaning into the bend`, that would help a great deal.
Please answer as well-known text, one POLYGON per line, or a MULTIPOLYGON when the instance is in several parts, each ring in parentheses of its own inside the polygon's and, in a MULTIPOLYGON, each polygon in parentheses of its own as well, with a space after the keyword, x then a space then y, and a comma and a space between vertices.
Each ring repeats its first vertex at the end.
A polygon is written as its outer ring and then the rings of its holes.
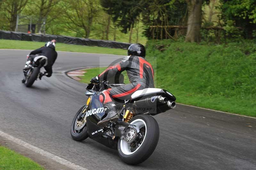
MULTIPOLYGON (((36 49, 32 52, 30 52, 29 54, 29 57, 28 57, 28 61, 31 61, 29 62, 28 64, 31 64, 33 59, 35 58, 35 56, 45 56, 47 57, 47 65, 44 66, 44 69, 45 69, 45 73, 47 77, 51 77, 52 76, 52 65, 54 64, 56 58, 57 58, 57 52, 55 51, 55 45, 56 45, 56 40, 52 40, 52 41, 49 41, 47 43, 45 43, 45 46, 44 47, 41 47, 39 49, 36 49)), ((26 63, 27 65, 27 63, 26 63)), ((25 67, 24 69, 28 68, 25 67)))

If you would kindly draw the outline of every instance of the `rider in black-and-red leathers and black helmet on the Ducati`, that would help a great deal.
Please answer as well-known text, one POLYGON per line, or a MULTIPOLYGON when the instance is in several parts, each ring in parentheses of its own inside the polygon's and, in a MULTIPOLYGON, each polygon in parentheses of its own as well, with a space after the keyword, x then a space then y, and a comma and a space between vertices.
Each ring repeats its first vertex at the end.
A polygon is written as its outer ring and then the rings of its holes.
POLYGON ((116 112, 115 101, 127 102, 132 94, 141 89, 154 88, 154 70, 150 63, 145 59, 146 50, 142 44, 135 43, 128 48, 128 56, 114 66, 108 67, 97 77, 92 78, 92 83, 107 80, 107 77, 119 75, 126 70, 130 84, 117 86, 112 89, 102 91, 100 101, 107 108, 107 116, 98 125, 108 126, 110 120, 117 121, 119 116, 116 112))

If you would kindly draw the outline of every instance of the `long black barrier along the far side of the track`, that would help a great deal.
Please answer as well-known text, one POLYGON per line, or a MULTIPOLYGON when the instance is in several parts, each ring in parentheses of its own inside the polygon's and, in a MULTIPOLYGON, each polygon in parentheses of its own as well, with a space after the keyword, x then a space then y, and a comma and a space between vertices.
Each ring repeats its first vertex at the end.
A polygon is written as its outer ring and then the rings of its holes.
POLYGON ((47 42, 55 39, 58 43, 76 44, 76 45, 87 45, 87 46, 98 46, 108 48, 120 48, 128 49, 130 43, 120 43, 116 41, 106 40, 95 40, 90 38, 78 38, 61 35, 39 35, 39 34, 27 34, 13 31, 0 30, 0 39, 6 40, 21 40, 21 41, 37 41, 47 42))

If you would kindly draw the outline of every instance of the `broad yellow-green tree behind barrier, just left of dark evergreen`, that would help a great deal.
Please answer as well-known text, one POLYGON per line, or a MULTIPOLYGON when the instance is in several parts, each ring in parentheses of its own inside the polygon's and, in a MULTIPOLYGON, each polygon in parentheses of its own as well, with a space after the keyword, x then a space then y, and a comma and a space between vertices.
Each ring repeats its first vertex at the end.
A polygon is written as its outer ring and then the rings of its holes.
POLYGON ((88 38, 92 29, 93 19, 101 10, 98 1, 91 0, 65 0, 62 7, 65 9, 67 27, 75 31, 78 36, 88 38), (82 30, 82 31, 81 31, 82 30))

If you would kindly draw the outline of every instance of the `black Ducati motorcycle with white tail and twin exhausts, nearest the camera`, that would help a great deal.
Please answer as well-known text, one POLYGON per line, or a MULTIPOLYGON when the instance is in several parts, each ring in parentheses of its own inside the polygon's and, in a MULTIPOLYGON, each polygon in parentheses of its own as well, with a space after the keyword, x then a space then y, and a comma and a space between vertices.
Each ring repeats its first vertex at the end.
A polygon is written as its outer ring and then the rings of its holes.
POLYGON ((158 143, 159 127, 152 116, 175 108, 176 98, 164 89, 138 90, 130 100, 116 105, 119 120, 102 128, 97 125, 106 116, 100 92, 120 85, 123 84, 108 84, 108 81, 88 84, 85 95, 89 98, 72 121, 71 136, 76 141, 90 137, 117 149, 125 163, 136 165, 149 158, 158 143))

